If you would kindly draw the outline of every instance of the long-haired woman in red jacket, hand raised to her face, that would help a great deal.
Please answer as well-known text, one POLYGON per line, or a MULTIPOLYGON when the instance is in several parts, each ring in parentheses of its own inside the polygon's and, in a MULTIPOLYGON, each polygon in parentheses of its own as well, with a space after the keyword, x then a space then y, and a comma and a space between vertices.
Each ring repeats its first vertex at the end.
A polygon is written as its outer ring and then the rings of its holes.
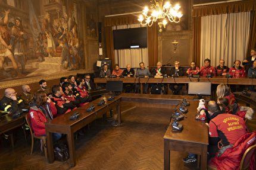
MULTIPOLYGON (((35 136, 46 136, 45 123, 51 120, 57 114, 57 109, 54 103, 46 97, 44 91, 37 91, 33 96, 33 101, 30 102, 29 115, 31 117, 31 125, 35 136)), ((63 134, 52 133, 52 142, 56 142, 63 134)), ((41 150, 43 148, 41 142, 41 150)))

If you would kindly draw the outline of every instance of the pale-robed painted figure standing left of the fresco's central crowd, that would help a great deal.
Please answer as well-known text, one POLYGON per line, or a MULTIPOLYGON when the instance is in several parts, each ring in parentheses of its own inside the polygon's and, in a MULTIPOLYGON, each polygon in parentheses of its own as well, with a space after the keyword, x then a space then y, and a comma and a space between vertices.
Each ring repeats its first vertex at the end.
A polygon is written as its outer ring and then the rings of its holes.
POLYGON ((51 17, 49 13, 46 13, 43 18, 43 44, 46 52, 48 53, 48 57, 52 57, 54 54, 56 47, 54 43, 54 38, 52 36, 52 25, 51 25, 51 17))

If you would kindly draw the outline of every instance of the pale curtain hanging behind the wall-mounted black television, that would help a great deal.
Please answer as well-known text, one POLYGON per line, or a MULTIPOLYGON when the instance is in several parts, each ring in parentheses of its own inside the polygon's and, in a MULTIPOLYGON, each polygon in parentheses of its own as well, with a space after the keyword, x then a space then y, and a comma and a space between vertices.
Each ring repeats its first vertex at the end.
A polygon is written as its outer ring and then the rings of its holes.
MULTIPOLYGON (((143 27, 141 24, 125 24, 115 25, 113 30, 138 28, 143 27)), ((145 67, 148 67, 148 48, 140 49, 120 49, 114 50, 115 63, 118 63, 120 68, 126 68, 127 64, 130 64, 132 68, 139 68, 139 63, 143 62, 145 67)))

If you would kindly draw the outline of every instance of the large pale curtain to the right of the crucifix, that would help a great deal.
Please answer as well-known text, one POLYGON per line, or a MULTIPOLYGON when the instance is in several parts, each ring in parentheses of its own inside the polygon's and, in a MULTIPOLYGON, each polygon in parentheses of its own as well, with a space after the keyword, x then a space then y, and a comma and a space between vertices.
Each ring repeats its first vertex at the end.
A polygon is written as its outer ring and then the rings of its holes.
POLYGON ((237 12, 201 17, 200 66, 206 58, 211 66, 217 66, 220 59, 228 67, 235 60, 243 60, 249 38, 250 12, 237 12))

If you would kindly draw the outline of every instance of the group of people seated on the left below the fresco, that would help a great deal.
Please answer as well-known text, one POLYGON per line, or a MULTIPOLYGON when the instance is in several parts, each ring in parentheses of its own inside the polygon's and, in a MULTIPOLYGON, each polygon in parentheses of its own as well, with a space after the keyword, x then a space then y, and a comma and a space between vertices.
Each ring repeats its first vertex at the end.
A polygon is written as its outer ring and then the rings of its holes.
MULTIPOLYGON (((67 78, 61 78, 60 84, 47 88, 45 80, 39 81, 40 88, 35 94, 31 94, 29 85, 21 86, 22 93, 17 95, 15 89, 7 88, 4 97, 0 100, 0 112, 2 114, 16 113, 17 111, 29 108, 31 124, 36 136, 45 136, 45 123, 54 117, 68 113, 82 105, 92 101, 92 95, 89 89, 95 88, 90 80, 90 75, 86 74, 85 78, 79 77, 75 79, 73 75, 67 78)), ((0 114, 1 115, 1 114, 0 114)), ((2 134, 4 147, 8 147, 8 136, 13 131, 2 134)), ((80 135, 83 131, 79 130, 80 135)), ((21 135, 21 134, 19 134, 21 135)), ((62 134, 53 133, 53 142, 56 142, 62 134)), ((43 149, 41 141, 41 149, 43 149)))

